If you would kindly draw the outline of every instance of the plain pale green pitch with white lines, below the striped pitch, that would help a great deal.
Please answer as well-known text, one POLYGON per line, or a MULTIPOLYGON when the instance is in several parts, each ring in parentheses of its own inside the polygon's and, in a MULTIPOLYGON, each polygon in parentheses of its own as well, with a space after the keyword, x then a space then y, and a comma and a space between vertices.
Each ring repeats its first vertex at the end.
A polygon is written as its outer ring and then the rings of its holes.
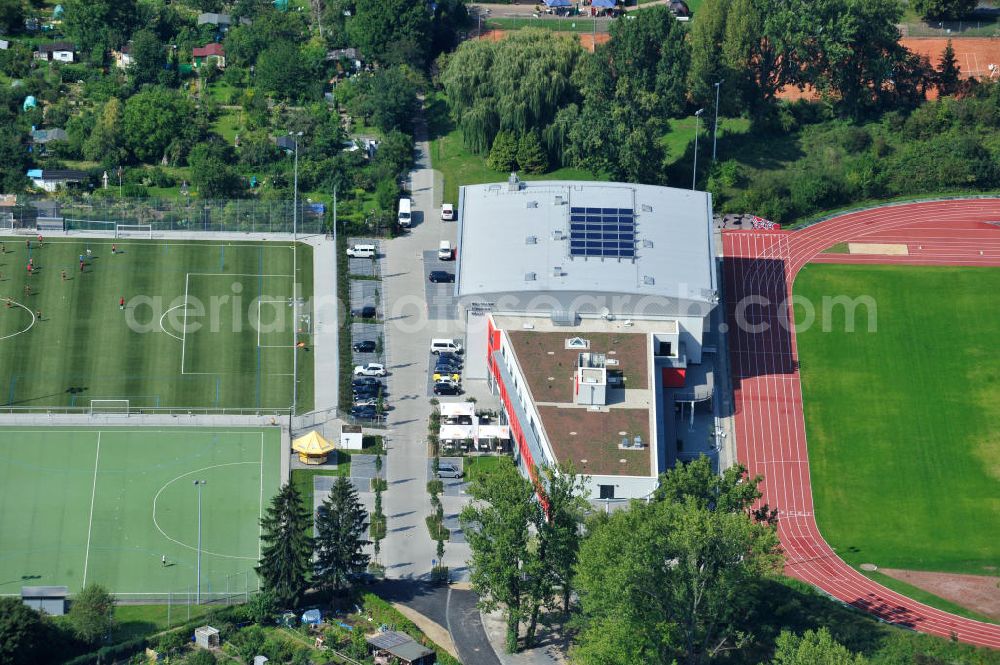
POLYGON ((89 582, 136 600, 195 590, 195 480, 202 599, 254 590, 280 445, 277 428, 0 428, 0 594, 89 582))

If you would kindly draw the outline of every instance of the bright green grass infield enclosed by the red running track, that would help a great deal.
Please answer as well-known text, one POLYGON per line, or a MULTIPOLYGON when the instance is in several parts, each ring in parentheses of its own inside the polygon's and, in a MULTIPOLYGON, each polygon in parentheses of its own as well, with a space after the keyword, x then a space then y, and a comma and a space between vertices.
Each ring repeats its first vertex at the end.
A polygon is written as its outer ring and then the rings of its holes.
POLYGON ((875 333, 863 309, 844 332, 843 308, 798 332, 824 537, 853 565, 995 575, 1000 270, 812 264, 795 295, 877 303, 875 333))

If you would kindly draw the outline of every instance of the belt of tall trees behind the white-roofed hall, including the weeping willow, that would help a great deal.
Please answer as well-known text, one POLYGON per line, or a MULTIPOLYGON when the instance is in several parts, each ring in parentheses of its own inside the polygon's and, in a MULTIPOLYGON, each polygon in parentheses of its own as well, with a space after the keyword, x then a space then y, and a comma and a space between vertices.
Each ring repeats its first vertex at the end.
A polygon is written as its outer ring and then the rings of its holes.
POLYGON ((897 0, 706 0, 690 24, 652 7, 614 21, 592 54, 533 30, 465 42, 439 58, 439 82, 466 147, 493 163, 509 162, 507 136, 537 137, 545 166, 657 183, 668 121, 711 117, 717 96, 720 114, 774 131, 787 87, 853 120, 914 108, 934 86, 948 93, 955 72, 899 43, 901 17, 897 0))

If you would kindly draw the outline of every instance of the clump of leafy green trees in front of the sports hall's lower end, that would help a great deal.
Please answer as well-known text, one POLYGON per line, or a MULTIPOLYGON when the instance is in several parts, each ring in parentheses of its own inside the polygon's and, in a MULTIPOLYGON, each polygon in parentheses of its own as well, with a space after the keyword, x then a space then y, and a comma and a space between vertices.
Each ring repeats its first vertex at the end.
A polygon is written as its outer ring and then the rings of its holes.
POLYGON ((534 643, 543 612, 572 609, 574 662, 705 662, 743 646, 756 585, 780 571, 775 513, 752 508, 760 481, 701 458, 648 504, 593 514, 571 467, 532 481, 504 458, 460 516, 473 587, 504 612, 511 651, 534 643))

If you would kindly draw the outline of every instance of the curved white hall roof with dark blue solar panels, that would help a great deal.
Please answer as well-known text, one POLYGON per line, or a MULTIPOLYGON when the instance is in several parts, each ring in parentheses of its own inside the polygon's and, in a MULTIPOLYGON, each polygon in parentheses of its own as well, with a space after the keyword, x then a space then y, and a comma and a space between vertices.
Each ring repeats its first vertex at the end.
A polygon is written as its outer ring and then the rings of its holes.
POLYGON ((717 288, 707 192, 619 182, 467 185, 459 222, 459 296, 572 291, 711 303, 717 288), (610 211, 634 219, 634 234, 618 227, 620 245, 606 256, 608 243, 588 222, 608 221, 610 211), (581 244, 590 238, 597 245, 581 244))

